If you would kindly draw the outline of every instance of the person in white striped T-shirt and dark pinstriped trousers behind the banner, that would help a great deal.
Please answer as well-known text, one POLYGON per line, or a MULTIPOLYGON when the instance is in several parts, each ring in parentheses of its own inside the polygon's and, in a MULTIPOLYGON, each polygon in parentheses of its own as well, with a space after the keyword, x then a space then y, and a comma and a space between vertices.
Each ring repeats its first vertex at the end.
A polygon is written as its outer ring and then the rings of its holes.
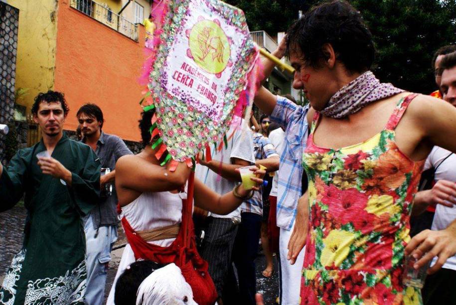
MULTIPOLYGON (((221 152, 212 150, 212 159, 200 160, 200 164, 196 166, 195 177, 219 194, 232 190, 241 181, 241 175, 235 171, 236 168, 255 164, 252 131, 245 128, 243 120, 235 117, 226 133, 227 137, 233 132, 226 149, 221 152)), ((223 284, 231 263, 234 238, 240 221, 240 208, 228 215, 210 214, 204 230, 200 255, 209 263, 209 274, 219 295, 218 304, 222 304, 220 298, 223 284)))

